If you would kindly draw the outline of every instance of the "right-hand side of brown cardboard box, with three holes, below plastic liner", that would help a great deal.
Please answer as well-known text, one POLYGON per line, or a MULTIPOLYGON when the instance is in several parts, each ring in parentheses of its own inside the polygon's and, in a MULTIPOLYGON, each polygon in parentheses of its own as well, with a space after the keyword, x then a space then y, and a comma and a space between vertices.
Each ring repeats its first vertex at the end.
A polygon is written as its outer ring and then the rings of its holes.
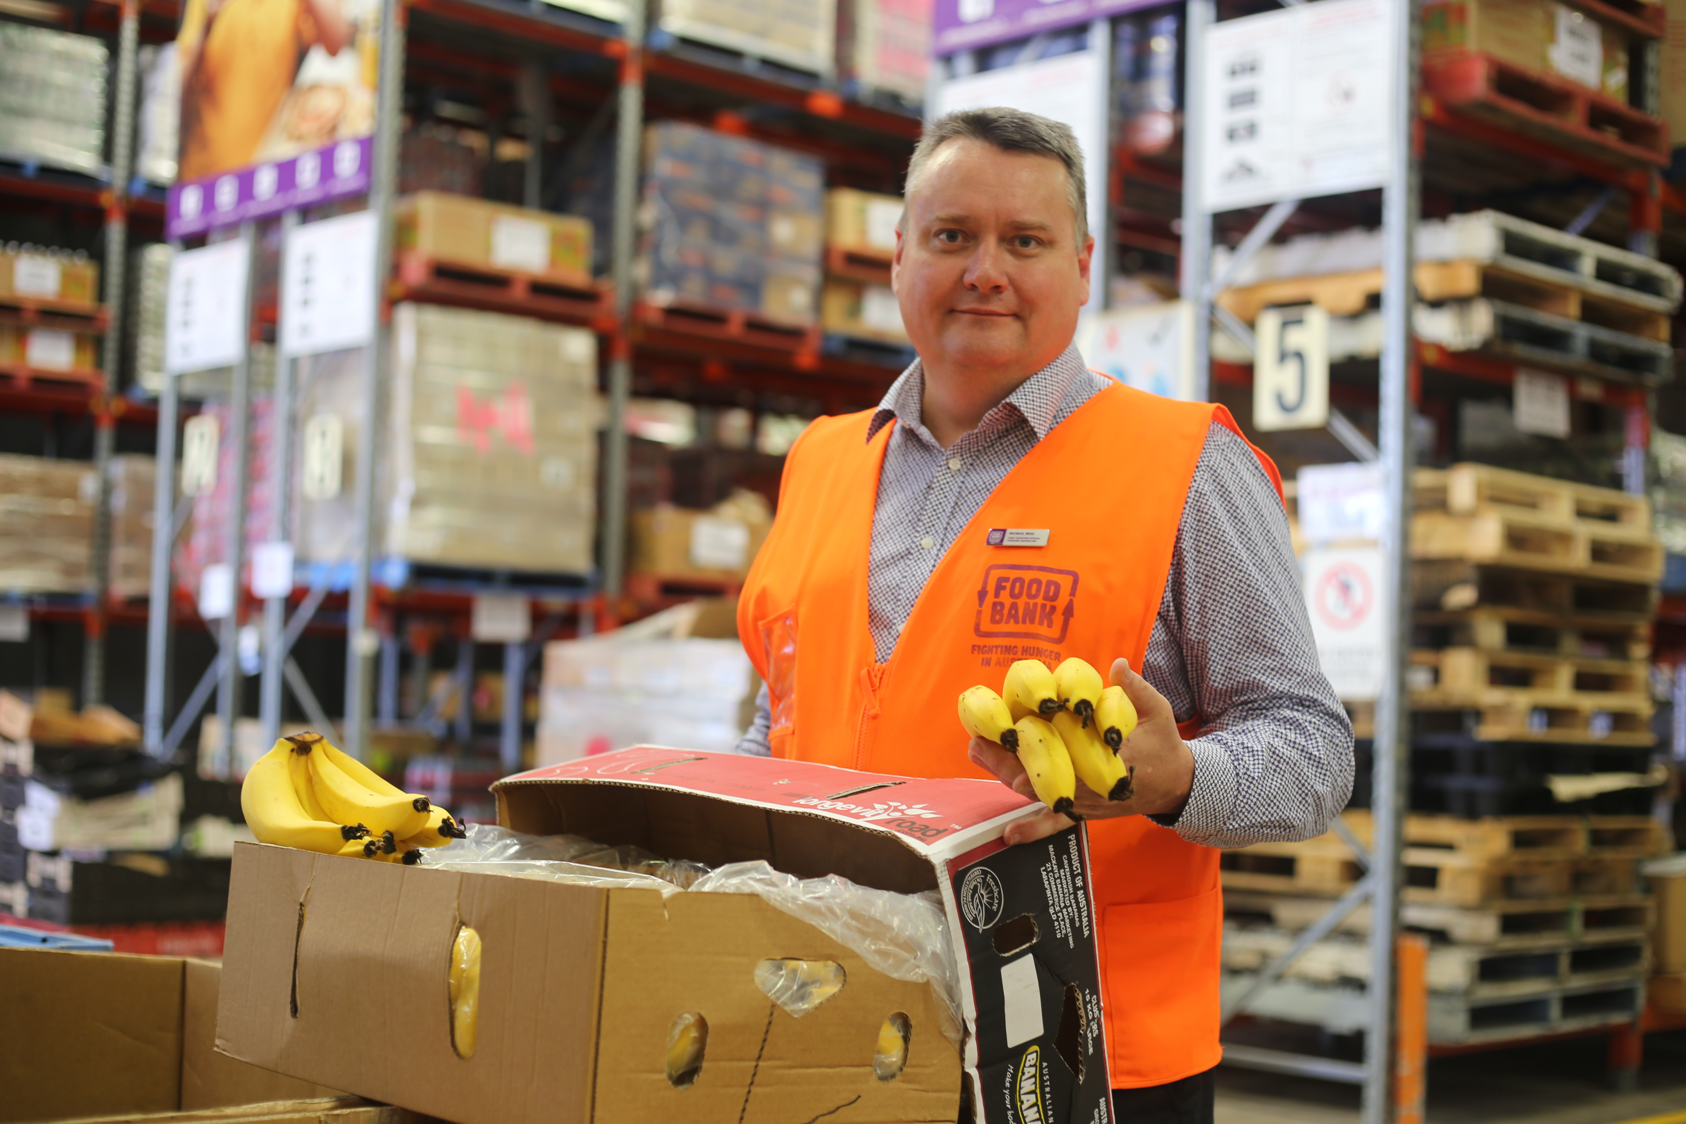
POLYGON ((941 1033, 924 982, 890 979, 814 927, 754 895, 610 893, 599 1050, 599 1124, 622 1121, 951 1121, 959 1053, 941 1033), (843 989, 801 1018, 755 984, 765 959, 833 961, 843 989), (674 1089, 661 1065, 678 1014, 708 1020, 695 1084, 674 1089), (878 1028, 910 1025, 907 1067, 890 1082, 872 1070, 878 1028))

